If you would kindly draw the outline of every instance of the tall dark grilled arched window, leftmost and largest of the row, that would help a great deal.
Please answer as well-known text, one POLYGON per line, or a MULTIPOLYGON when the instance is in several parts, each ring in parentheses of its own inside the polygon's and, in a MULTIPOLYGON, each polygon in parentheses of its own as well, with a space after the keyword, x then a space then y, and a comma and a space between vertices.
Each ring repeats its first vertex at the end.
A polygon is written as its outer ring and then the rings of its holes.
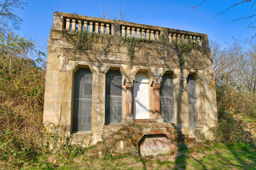
POLYGON ((92 72, 79 68, 74 75, 73 132, 92 130, 92 72))

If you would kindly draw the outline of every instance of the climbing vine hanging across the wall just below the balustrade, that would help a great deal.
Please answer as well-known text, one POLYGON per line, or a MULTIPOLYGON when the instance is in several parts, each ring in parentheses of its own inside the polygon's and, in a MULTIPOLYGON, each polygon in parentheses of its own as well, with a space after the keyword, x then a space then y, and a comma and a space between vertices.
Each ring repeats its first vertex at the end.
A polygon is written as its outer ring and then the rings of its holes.
MULTIPOLYGON (((153 48, 156 50, 159 47, 161 42, 156 42, 154 40, 144 40, 140 38, 126 38, 126 37, 114 37, 113 35, 104 35, 99 33, 87 33, 84 30, 80 31, 69 31, 63 29, 63 38, 65 38, 68 42, 74 45, 73 52, 75 54, 85 54, 87 55, 88 50, 93 50, 93 45, 97 40, 102 38, 102 53, 107 55, 109 52, 118 50, 122 46, 127 47, 127 55, 129 56, 130 65, 132 67, 134 62, 134 57, 136 53, 136 47, 140 49, 144 42, 151 43, 153 48)), ((206 52, 206 48, 198 45, 196 42, 192 42, 190 39, 187 40, 187 43, 178 44, 173 43, 170 44, 174 46, 178 57, 180 59, 180 65, 184 64, 184 56, 190 54, 192 50, 198 50, 203 52, 205 55, 208 55, 206 52)), ((168 45, 168 46, 170 46, 168 45)))

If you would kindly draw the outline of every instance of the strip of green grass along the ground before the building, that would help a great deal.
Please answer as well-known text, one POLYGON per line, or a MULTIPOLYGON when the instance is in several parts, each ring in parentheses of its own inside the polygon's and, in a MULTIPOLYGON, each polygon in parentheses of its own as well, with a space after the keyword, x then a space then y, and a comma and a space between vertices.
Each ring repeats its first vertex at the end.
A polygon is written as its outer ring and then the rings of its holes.
POLYGON ((133 154, 93 158, 86 155, 65 157, 61 154, 41 155, 32 162, 15 167, 0 161, 0 169, 256 169, 256 150, 245 144, 213 147, 181 148, 181 157, 144 159, 133 154))

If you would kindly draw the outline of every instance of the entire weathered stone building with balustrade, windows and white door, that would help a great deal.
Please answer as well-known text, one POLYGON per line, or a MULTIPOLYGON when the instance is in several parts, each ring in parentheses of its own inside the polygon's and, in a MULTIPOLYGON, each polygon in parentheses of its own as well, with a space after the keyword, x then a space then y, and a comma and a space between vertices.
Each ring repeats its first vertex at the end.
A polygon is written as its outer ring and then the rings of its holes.
POLYGON ((104 132, 120 153, 131 143, 145 155, 169 153, 178 135, 212 139, 217 108, 208 35, 55 12, 43 122, 62 123, 86 144, 104 132))

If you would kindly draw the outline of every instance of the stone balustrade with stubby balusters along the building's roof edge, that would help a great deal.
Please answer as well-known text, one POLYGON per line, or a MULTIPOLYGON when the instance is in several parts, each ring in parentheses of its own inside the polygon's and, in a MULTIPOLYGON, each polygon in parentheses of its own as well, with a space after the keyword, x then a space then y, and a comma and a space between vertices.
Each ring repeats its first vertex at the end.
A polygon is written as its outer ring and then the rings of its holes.
POLYGON ((190 41, 208 47, 208 36, 202 33, 193 33, 185 30, 114 21, 90 16, 80 16, 70 13, 55 12, 53 29, 66 29, 70 31, 85 30, 87 33, 100 33, 126 38, 165 41, 165 43, 169 44, 183 44, 190 41))

